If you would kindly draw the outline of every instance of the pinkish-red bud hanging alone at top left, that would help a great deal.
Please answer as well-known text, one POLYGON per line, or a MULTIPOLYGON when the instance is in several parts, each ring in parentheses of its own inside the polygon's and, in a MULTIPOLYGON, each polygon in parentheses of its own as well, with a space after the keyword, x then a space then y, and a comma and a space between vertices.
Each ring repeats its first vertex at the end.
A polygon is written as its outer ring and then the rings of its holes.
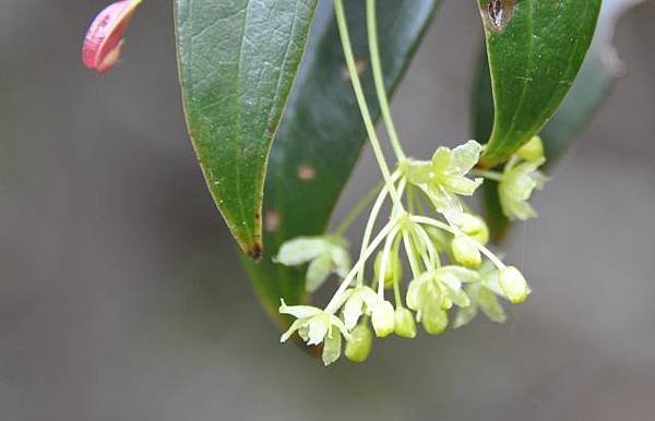
POLYGON ((98 13, 84 37, 84 65, 103 74, 118 62, 123 45, 122 35, 141 1, 116 1, 98 13))

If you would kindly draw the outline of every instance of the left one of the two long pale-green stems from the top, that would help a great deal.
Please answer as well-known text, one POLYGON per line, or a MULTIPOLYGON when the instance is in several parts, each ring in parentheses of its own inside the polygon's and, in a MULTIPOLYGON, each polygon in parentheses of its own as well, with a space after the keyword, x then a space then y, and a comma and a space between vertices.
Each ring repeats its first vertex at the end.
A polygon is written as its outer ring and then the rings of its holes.
POLYGON ((364 95, 364 89, 361 87, 359 74, 357 73, 357 65, 355 64, 355 56, 353 55, 353 47, 350 45, 350 35, 348 34, 348 24, 346 21, 346 13, 344 11, 343 0, 334 0, 334 11, 341 36, 342 47, 344 49, 344 56, 346 57, 348 73, 350 75, 350 82, 353 83, 355 97, 357 98, 357 104, 359 105, 361 118, 364 119, 364 125, 366 127, 366 131, 368 133, 371 146, 373 148, 373 154, 376 155, 376 159, 378 160, 378 165, 380 166, 380 171, 382 171, 382 177, 384 178, 384 182, 386 183, 386 188, 389 189, 391 199, 394 202, 394 204, 402 209, 403 204, 401 203, 401 199, 398 197, 393 182, 391 181, 391 173, 389 171, 386 160, 384 159, 384 154, 382 153, 382 147, 380 146, 380 141, 378 140, 378 134, 376 133, 376 127, 373 125, 373 120, 371 119, 368 105, 366 104, 366 96, 364 95))

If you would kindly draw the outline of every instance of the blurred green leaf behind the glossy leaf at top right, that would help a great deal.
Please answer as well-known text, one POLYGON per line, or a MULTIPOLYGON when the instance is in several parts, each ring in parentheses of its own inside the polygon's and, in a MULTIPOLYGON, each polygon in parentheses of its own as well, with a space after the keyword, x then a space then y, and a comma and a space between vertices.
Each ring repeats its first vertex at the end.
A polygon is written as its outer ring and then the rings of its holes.
MULTIPOLYGON (((631 7, 645 0, 605 0, 598 16, 598 25, 592 47, 581 67, 573 87, 564 98, 555 117, 544 127, 540 136, 546 149, 546 169, 551 168, 571 147, 576 135, 592 119, 615 82, 624 73, 623 64, 612 46, 612 37, 620 16, 631 7)), ((481 57, 475 82, 474 133, 486 139, 492 127, 493 101, 491 81, 486 57, 481 57)), ((502 214, 498 200, 498 184, 484 184, 484 202, 487 221, 498 242, 507 234, 509 220, 502 214)))

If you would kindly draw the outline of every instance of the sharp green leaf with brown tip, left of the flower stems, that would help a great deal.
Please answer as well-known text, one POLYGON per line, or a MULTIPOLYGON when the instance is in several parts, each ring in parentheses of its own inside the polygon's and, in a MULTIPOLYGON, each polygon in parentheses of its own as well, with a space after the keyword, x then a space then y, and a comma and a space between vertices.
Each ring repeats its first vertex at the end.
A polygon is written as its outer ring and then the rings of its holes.
POLYGON ((176 0, 187 125, 214 201, 239 245, 261 254, 271 142, 317 0, 176 0))

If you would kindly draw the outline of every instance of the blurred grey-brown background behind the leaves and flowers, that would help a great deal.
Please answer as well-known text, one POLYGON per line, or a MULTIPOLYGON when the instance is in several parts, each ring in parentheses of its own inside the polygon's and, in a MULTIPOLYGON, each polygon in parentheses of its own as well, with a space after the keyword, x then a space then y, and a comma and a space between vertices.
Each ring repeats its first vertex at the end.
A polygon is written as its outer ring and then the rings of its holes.
MULTIPOLYGON (((104 1, 0 11, 0 419, 655 418, 655 2, 629 67, 508 250, 534 294, 505 325, 378 341, 330 369, 258 306, 187 140, 170 2, 106 77, 80 47, 104 1)), ((474 1, 444 1, 394 101, 413 154, 468 139, 474 1)), ((378 178, 367 152, 343 197, 378 178)))

